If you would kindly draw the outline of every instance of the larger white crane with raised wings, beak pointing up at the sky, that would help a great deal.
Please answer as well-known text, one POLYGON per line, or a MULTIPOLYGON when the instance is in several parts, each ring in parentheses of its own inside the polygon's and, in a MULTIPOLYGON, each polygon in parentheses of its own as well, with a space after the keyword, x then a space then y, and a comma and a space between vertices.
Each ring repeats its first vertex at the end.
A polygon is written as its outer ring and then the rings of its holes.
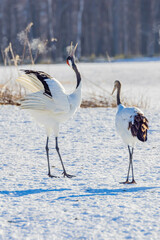
POLYGON ((49 162, 48 142, 52 131, 55 135, 55 147, 62 164, 63 175, 68 178, 74 177, 74 175, 67 174, 65 170, 58 147, 58 135, 60 123, 73 116, 81 103, 81 75, 74 61, 76 47, 77 45, 72 49, 71 46, 71 54, 67 58, 67 64, 72 66, 77 77, 77 86, 72 94, 67 95, 60 82, 42 71, 22 70, 25 74, 17 79, 20 84, 32 92, 21 100, 21 109, 27 109, 35 120, 44 125, 46 129, 46 155, 49 177, 56 177, 51 175, 49 162))

